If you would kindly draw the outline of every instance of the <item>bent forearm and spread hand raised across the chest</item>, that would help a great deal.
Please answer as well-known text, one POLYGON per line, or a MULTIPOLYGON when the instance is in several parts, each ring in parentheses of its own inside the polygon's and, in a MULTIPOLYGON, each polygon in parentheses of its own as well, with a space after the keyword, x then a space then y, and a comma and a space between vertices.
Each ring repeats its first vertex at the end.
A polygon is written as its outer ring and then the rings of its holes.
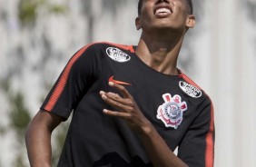
POLYGON ((103 101, 112 105, 119 112, 103 110, 103 113, 123 118, 123 120, 138 133, 153 166, 158 167, 183 167, 187 166, 170 150, 161 135, 157 133, 153 124, 150 123, 140 111, 133 97, 128 91, 119 84, 109 83, 110 86, 123 94, 121 97, 115 93, 104 93, 101 91, 103 101))

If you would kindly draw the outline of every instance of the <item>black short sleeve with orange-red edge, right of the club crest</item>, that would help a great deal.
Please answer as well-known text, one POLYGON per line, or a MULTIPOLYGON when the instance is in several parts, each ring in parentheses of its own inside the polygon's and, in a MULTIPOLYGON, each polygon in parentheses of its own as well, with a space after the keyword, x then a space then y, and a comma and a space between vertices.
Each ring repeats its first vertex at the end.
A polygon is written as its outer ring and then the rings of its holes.
POLYGON ((179 145, 178 157, 190 167, 212 167, 215 130, 211 100, 206 98, 198 110, 199 115, 179 145))

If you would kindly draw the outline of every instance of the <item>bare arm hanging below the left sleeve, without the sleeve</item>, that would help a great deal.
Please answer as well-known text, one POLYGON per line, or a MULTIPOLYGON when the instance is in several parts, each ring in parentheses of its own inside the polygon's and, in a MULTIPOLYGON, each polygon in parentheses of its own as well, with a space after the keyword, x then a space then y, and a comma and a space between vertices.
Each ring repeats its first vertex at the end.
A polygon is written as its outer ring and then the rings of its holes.
POLYGON ((60 116, 42 110, 34 116, 25 133, 25 143, 31 166, 51 166, 51 134, 61 122, 60 116))

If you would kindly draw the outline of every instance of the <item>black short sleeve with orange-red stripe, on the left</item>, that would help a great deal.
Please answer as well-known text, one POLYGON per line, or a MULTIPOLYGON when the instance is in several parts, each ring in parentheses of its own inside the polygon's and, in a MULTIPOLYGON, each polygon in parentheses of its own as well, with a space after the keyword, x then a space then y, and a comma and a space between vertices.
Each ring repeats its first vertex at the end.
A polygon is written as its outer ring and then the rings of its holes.
POLYGON ((67 119, 84 96, 97 73, 95 47, 84 46, 75 53, 64 67, 44 100, 41 109, 67 119))

